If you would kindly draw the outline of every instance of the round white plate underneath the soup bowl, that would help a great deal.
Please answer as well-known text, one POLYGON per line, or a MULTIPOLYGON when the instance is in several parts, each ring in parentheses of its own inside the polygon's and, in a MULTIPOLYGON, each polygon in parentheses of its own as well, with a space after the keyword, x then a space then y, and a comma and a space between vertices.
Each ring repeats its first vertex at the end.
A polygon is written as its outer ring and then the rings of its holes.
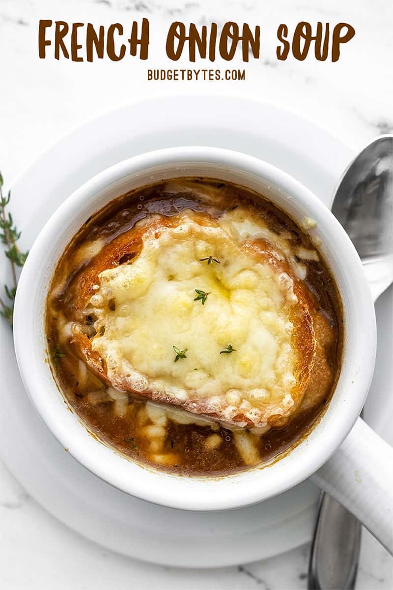
MULTIPOLYGON (((72 131, 15 182, 11 210, 22 247, 32 244, 58 205, 95 173, 137 153, 178 145, 258 156, 298 178, 326 204, 352 158, 329 133, 267 104, 231 97, 131 104, 72 131)), ((0 277, 7 271, 2 256, 0 277)), ((194 514, 134 499, 93 476, 60 447, 32 408, 5 322, 0 336, 2 458, 28 493, 72 529, 134 558, 193 567, 267 558, 311 538, 319 492, 310 481, 256 506, 194 514)))

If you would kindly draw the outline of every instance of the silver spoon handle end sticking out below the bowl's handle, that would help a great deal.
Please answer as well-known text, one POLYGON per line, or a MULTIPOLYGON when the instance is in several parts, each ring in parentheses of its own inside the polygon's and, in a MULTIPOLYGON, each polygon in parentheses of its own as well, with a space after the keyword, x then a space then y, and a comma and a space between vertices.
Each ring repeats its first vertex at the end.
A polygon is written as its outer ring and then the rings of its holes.
POLYGON ((322 492, 309 562, 309 590, 355 588, 361 535, 359 520, 322 492))

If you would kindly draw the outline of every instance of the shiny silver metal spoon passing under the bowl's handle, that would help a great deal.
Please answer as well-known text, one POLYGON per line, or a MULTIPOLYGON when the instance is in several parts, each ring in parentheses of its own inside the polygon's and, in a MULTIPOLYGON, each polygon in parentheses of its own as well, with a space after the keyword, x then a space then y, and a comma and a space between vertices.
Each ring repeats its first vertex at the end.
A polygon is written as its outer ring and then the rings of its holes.
MULTIPOLYGON (((393 135, 374 139, 348 166, 333 194, 332 212, 354 242, 376 301, 393 282, 393 135)), ((361 532, 359 520, 322 492, 309 590, 355 588, 361 532)))

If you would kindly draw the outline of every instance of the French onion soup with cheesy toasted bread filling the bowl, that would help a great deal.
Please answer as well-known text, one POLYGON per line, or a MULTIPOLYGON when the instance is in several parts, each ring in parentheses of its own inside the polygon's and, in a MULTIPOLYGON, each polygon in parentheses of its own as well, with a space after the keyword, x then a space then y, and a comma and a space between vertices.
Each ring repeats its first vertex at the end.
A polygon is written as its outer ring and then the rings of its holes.
POLYGON ((315 222, 301 225, 205 178, 87 219, 46 322, 52 371, 90 432, 184 474, 263 465, 299 442, 335 388, 343 332, 315 222))

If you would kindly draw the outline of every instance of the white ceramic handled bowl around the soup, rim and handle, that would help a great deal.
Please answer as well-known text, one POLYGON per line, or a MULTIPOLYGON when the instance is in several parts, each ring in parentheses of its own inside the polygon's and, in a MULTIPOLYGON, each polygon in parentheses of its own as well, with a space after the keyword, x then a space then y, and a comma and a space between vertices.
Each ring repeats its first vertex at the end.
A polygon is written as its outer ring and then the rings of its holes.
MULTIPOLYGON (((288 490, 319 470, 358 419, 371 382, 376 350, 374 304, 361 260, 329 209, 305 186, 262 160, 203 147, 171 148, 136 156, 103 171, 75 191, 49 219, 28 255, 16 294, 14 336, 19 370, 32 404, 65 450, 118 489, 183 510, 236 509, 253 504, 288 490), (47 360, 45 300, 58 260, 71 238, 86 219, 117 196, 156 181, 184 176, 206 176, 245 186, 264 195, 298 224, 304 217, 315 219, 313 234, 321 240, 319 251, 335 278, 343 306, 342 368, 321 419, 280 460, 220 477, 160 471, 98 441, 67 404, 47 360)), ((371 489, 384 492, 386 477, 356 453, 358 445, 366 449, 372 445, 379 456, 386 458, 387 445, 364 424, 357 425, 353 432, 352 442, 347 444, 349 450, 339 451, 331 459, 333 463, 327 464, 330 467, 319 471, 318 483, 351 504, 388 545, 384 515, 391 507, 391 496, 388 499, 382 493, 384 500, 378 509, 372 508, 369 497, 371 489), (356 483, 352 468, 355 465, 356 470, 355 461, 361 463, 358 471, 370 475, 371 487, 356 483), (371 522, 367 516, 370 510, 371 522)))

